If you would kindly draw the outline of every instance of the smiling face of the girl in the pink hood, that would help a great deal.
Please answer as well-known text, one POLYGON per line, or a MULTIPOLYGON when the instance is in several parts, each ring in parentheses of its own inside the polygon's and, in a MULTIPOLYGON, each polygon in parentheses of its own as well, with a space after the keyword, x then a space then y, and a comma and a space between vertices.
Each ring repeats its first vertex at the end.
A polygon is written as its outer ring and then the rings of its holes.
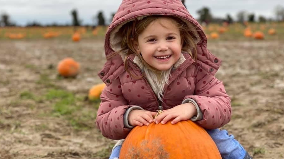
POLYGON ((158 18, 139 34, 134 47, 148 65, 159 71, 168 70, 180 58, 180 30, 173 19, 158 18))

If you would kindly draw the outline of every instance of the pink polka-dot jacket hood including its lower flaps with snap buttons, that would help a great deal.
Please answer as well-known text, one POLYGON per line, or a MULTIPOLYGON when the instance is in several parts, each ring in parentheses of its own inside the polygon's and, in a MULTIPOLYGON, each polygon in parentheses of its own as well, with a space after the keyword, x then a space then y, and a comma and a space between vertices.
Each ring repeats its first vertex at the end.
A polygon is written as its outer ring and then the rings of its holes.
POLYGON ((99 72, 99 76, 104 82, 106 79, 116 78, 119 72, 123 70, 123 68, 116 66, 118 64, 123 65, 121 57, 111 56, 121 48, 122 35, 120 34, 120 28, 129 21, 142 19, 153 14, 174 16, 180 18, 182 21, 189 24, 189 26, 196 28, 196 65, 210 74, 214 75, 216 73, 221 65, 221 59, 216 58, 207 50, 207 38, 202 27, 196 19, 189 14, 180 0, 123 0, 105 36, 104 47, 107 61, 101 72, 99 72), (112 69, 112 67, 114 68, 112 69), (114 70, 114 72, 111 70, 114 70))

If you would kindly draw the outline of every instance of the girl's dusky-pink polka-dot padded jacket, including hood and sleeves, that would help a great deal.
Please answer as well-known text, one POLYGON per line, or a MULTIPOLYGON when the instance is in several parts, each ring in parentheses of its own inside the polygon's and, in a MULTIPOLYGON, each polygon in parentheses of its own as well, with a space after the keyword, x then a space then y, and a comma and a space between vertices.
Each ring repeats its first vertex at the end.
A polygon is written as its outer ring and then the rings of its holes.
MULTIPOLYGON (((231 101, 226 94, 223 83, 214 77, 221 65, 207 50, 207 39, 199 23, 184 8, 180 0, 123 0, 105 38, 105 54, 107 61, 99 76, 106 87, 102 91, 101 104, 97 112, 96 124, 103 136, 111 139, 124 139, 130 132, 125 127, 124 114, 133 106, 153 111, 170 109, 180 105, 185 99, 193 99, 198 104, 203 118, 196 121, 206 129, 219 128, 230 121, 231 101), (124 67, 120 55, 111 56, 120 50, 120 32, 123 24, 141 16, 160 14, 175 16, 187 23, 192 23, 197 30, 198 59, 194 61, 187 53, 185 60, 171 71, 168 84, 164 86, 163 101, 160 102, 146 78, 136 79, 130 76, 124 67)), ((135 55, 130 55, 129 69, 133 74, 141 76, 139 66, 134 62, 135 55)))

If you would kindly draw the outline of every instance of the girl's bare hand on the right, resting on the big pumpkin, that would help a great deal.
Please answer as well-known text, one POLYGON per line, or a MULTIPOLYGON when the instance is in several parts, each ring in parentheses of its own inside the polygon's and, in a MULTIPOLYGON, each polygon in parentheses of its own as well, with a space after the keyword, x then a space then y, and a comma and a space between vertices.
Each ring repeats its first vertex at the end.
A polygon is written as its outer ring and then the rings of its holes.
POLYGON ((181 105, 177 105, 171 109, 163 110, 163 113, 158 115, 153 121, 156 124, 165 124, 169 120, 174 120, 171 122, 171 124, 175 124, 181 120, 188 120, 192 118, 194 115, 197 116, 197 110, 194 104, 192 103, 184 103, 181 105))

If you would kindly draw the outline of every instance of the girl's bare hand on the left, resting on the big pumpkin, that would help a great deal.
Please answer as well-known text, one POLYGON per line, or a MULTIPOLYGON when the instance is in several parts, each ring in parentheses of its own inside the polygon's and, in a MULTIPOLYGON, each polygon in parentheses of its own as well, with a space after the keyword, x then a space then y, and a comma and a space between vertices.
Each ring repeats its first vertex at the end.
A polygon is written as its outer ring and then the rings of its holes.
POLYGON ((153 116, 157 114, 156 112, 149 112, 146 110, 132 110, 128 115, 128 123, 132 126, 143 126, 149 125, 153 122, 153 116))

